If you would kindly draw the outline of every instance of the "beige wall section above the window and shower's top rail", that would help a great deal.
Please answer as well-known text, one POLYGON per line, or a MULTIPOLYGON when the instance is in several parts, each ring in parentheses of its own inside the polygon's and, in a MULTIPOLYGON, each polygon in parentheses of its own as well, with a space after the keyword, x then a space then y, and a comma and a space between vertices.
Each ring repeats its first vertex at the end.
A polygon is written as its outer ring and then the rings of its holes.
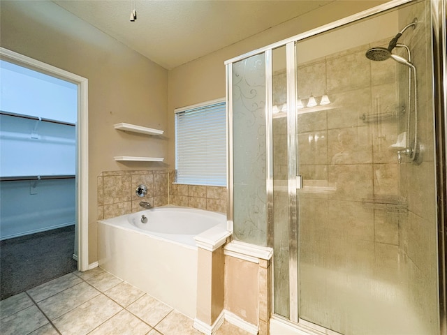
POLYGON ((168 80, 168 137, 170 138, 168 163, 171 166, 174 164, 175 108, 223 98, 225 96, 224 61, 386 2, 388 1, 334 1, 318 10, 263 31, 261 34, 256 34, 170 70, 168 80))

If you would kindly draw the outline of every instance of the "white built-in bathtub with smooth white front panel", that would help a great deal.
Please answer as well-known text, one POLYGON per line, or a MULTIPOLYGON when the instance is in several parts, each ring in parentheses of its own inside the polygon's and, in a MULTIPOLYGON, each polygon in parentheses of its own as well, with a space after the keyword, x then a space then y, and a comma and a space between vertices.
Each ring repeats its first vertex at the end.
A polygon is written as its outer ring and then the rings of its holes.
POLYGON ((226 216, 164 206, 98 221, 99 266, 181 313, 196 317, 197 247, 194 237, 226 216), (142 215, 147 223, 142 223, 142 215))

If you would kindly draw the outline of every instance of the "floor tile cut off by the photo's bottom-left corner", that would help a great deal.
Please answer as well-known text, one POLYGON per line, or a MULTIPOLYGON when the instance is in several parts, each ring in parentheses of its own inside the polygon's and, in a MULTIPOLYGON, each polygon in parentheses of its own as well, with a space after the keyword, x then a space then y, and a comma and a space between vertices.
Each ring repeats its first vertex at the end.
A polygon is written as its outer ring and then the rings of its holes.
POLYGON ((2 335, 29 334, 47 324, 48 320, 36 305, 0 320, 2 335))

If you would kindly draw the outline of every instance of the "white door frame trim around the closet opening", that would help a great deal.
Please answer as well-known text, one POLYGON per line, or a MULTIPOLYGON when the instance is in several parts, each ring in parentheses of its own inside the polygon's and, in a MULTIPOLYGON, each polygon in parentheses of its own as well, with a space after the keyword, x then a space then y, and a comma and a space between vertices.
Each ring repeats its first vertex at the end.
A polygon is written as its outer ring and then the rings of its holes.
POLYGON ((59 79, 78 85, 78 122, 76 127, 76 203, 78 218, 78 270, 85 271, 89 267, 89 119, 88 119, 88 80, 74 73, 57 68, 42 61, 37 61, 22 54, 0 47, 2 59, 13 61, 20 66, 27 66, 34 70, 59 77, 59 79))

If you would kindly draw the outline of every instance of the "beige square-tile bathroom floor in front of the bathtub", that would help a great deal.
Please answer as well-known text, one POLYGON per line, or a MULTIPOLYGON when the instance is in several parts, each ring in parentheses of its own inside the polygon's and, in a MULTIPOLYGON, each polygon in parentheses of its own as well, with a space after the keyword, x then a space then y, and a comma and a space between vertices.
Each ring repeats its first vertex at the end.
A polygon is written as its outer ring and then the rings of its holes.
MULTIPOLYGON (((200 335, 193 320, 97 267, 0 301, 2 335, 200 335)), ((223 322, 216 335, 248 335, 223 322)))

